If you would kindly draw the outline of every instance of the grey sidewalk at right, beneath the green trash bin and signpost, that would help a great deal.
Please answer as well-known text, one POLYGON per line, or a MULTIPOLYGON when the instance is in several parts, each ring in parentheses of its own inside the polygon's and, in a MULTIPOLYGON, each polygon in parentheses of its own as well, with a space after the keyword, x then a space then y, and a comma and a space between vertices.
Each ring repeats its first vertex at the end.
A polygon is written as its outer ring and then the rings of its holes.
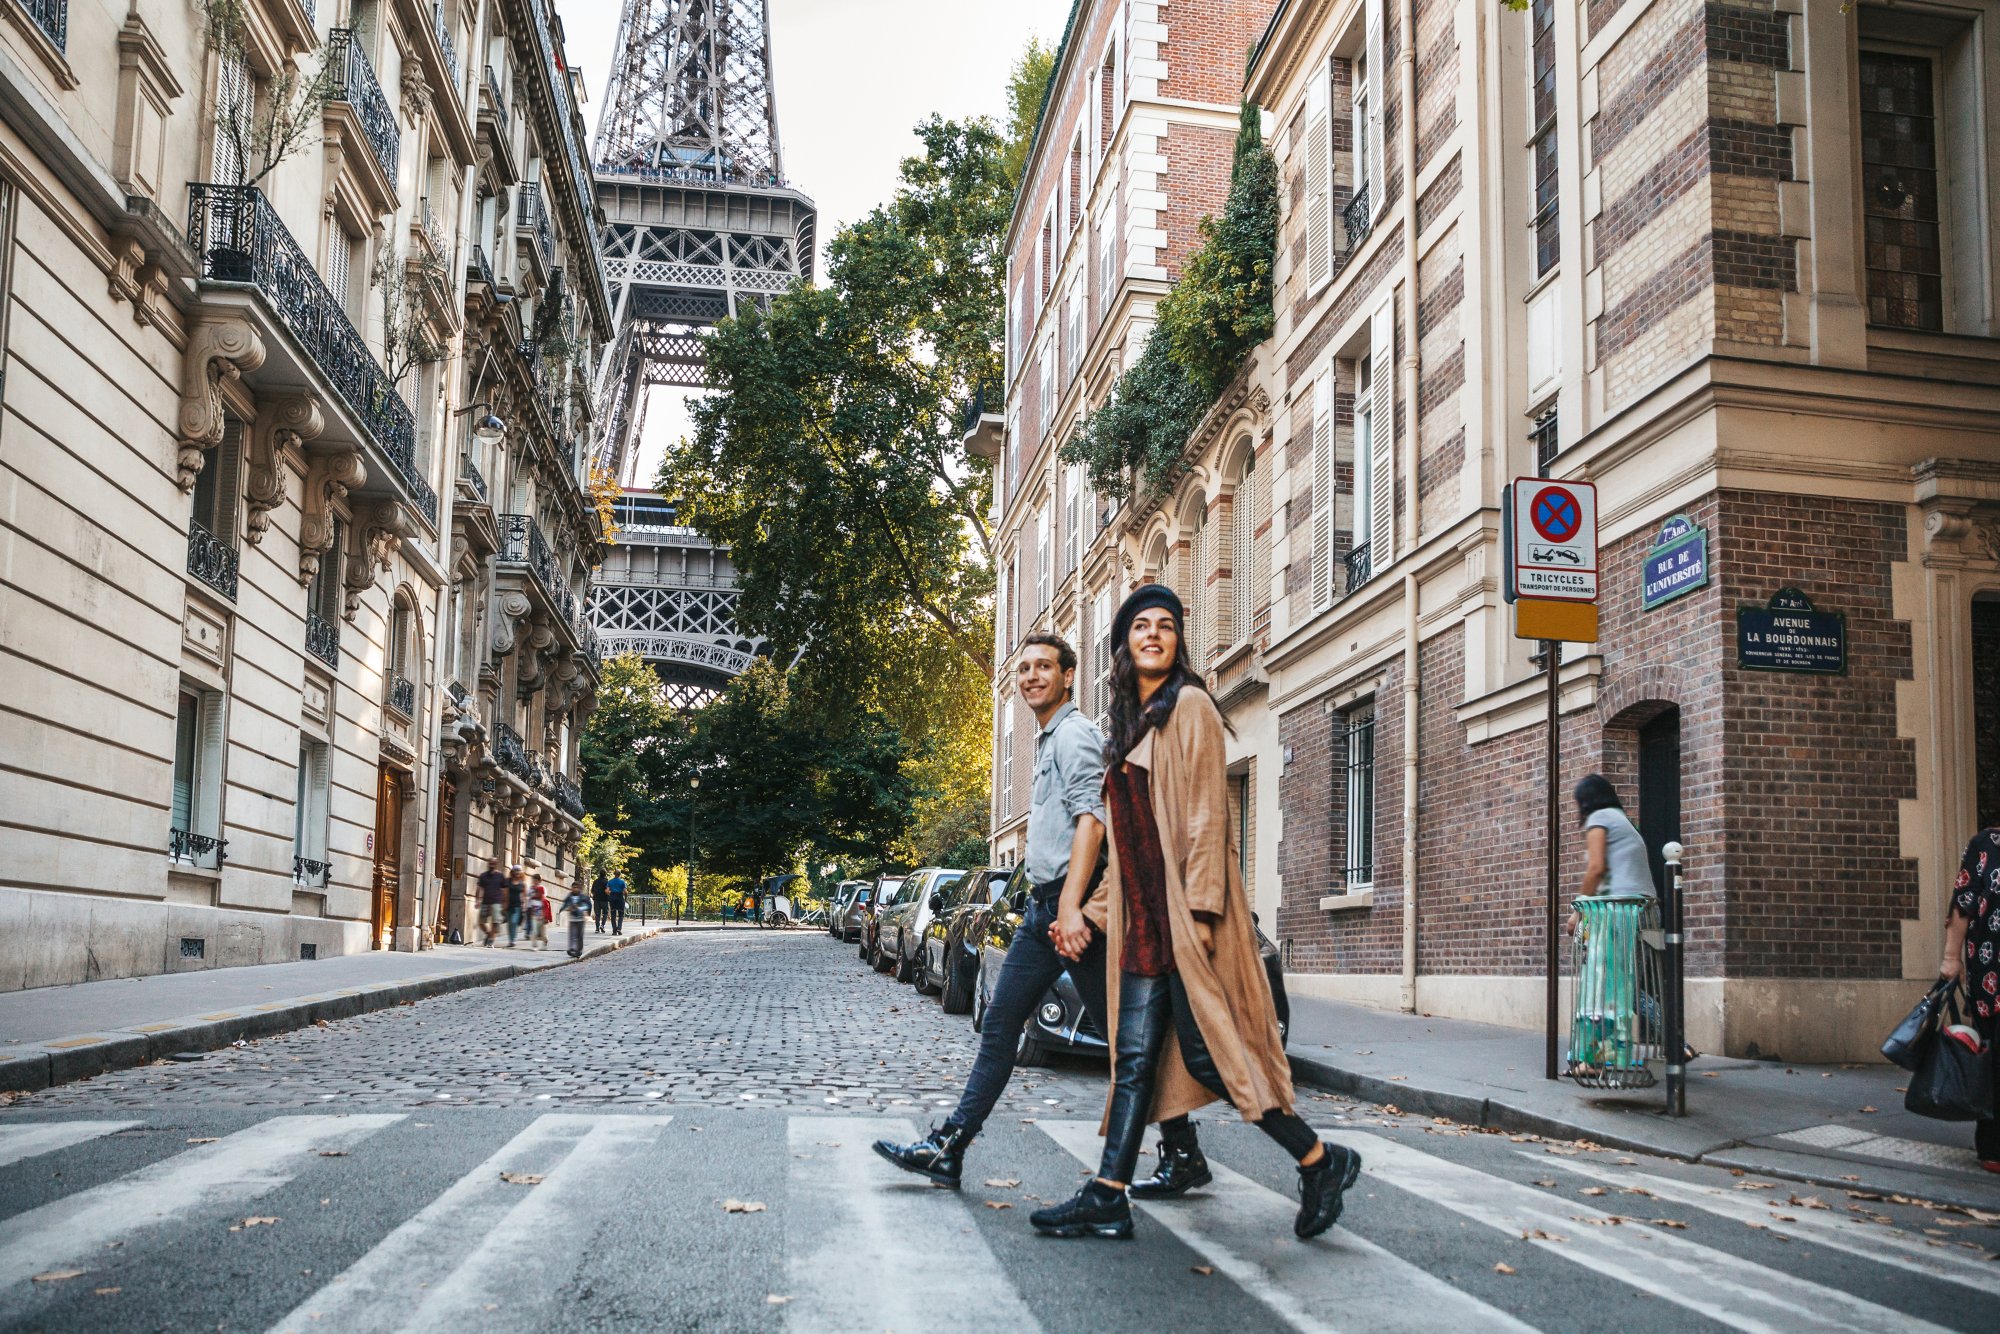
POLYGON ((1688 1114, 1670 1118, 1664 1080, 1632 1092, 1546 1080, 1542 1034, 1520 1028, 1294 996, 1286 1050, 1300 1082, 1402 1112, 2000 1210, 1972 1126, 1904 1112, 1908 1074, 1890 1064, 1702 1056, 1688 1114))

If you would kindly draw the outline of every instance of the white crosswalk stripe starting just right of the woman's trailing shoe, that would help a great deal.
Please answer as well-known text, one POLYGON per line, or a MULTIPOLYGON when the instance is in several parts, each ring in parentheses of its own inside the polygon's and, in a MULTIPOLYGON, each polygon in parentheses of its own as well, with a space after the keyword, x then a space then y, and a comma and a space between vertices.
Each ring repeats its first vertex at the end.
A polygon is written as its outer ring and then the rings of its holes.
POLYGON ((1602 1226, 1610 1214, 1550 1198, 1534 1186, 1436 1158, 1396 1140, 1334 1132, 1366 1160, 1364 1180, 1388 1182, 1738 1330, 1866 1330, 1908 1334, 1940 1326, 1826 1288, 1646 1224, 1602 1226), (1596 1224, 1592 1222, 1596 1220, 1596 1224), (1554 1240, 1556 1236, 1564 1240, 1554 1240))

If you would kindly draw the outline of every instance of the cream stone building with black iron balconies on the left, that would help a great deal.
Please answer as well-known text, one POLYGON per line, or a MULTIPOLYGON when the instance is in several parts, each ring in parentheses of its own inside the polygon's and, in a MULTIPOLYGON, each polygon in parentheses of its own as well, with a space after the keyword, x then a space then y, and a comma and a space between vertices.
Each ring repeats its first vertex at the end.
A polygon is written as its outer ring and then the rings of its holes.
POLYGON ((430 944, 580 814, 560 22, 0 14, 0 986, 430 944))

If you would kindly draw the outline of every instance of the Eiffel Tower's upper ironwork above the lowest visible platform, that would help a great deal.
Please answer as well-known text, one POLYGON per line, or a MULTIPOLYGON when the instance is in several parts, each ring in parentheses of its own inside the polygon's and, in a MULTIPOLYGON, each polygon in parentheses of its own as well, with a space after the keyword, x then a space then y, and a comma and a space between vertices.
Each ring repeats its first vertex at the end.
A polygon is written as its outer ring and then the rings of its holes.
POLYGON ((784 180, 768 0, 624 0, 594 144, 616 338, 598 464, 636 482, 652 386, 702 386, 702 330, 812 282, 816 210, 784 180))

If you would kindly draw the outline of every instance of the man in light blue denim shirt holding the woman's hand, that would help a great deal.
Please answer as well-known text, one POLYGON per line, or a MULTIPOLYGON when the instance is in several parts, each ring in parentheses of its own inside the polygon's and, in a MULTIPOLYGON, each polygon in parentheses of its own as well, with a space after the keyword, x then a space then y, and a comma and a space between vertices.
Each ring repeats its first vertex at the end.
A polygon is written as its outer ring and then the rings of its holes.
MULTIPOLYGON (((1064 970, 1098 1032, 1104 1026, 1104 938, 1084 920, 1084 900, 1104 872, 1104 734, 1076 710, 1076 650, 1060 634, 1030 634, 1014 664, 1020 702, 1034 710, 1034 790, 1028 804, 1028 880, 1034 894, 980 1026, 958 1110, 916 1144, 876 1140, 874 1150, 904 1172, 958 1188, 966 1144, 986 1124, 1014 1074, 1020 1026, 1064 970)), ((1182 1116, 1162 1146, 1160 1170, 1132 1182, 1132 1196, 1178 1196, 1210 1180, 1208 1164, 1182 1116)))

